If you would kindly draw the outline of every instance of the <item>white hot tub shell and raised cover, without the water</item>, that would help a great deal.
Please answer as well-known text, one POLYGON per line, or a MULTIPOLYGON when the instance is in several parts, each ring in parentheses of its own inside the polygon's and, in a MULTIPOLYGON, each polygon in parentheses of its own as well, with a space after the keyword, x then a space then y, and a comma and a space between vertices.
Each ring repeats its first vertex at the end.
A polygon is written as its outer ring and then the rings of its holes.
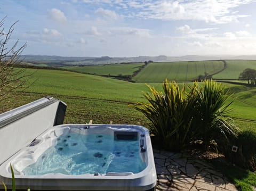
MULTIPOLYGON (((0 156, 1 181, 4 181, 10 188, 12 184, 10 164, 12 164, 17 189, 155 190, 156 170, 148 129, 142 126, 122 124, 60 124, 63 122, 65 110, 65 103, 54 98, 43 98, 33 102, 33 104, 27 104, 0 115, 1 145, 9 144, 9 142, 11 144, 9 151, 0 156), (35 107, 37 107, 37 109, 35 107), (31 110, 31 108, 34 108, 34 110, 31 110), (17 117, 17 114, 19 117, 17 117), (4 123, 4 121, 6 123, 4 123), (40 124, 38 124, 38 122, 40 124), (34 127, 32 127, 33 125, 34 127), (36 130, 33 130, 31 133, 31 128, 36 130), (10 129, 10 132, 8 129, 10 129), (22 129, 25 131, 25 134, 19 136, 19 134, 15 132, 15 129, 22 129), (2 134, 1 131, 3 132, 2 134), (32 176, 22 173, 24 168, 35 163, 38 157, 54 144, 54 140, 57 137, 65 135, 68 131, 77 131, 81 134, 109 134, 113 135, 113 137, 131 135, 131 133, 134 135, 135 132, 140 142, 140 157, 146 163, 146 168, 138 173, 108 172, 106 174, 97 173, 94 175, 90 173, 83 175, 47 173, 46 175, 32 176), (35 136, 35 134, 37 134, 37 136, 35 136), (5 143, 2 143, 1 136, 10 137, 4 140, 5 143), (11 137, 16 137, 16 139, 12 139, 11 137), (22 143, 22 145, 18 143, 22 143)), ((20 130, 18 132, 20 132, 20 130)))

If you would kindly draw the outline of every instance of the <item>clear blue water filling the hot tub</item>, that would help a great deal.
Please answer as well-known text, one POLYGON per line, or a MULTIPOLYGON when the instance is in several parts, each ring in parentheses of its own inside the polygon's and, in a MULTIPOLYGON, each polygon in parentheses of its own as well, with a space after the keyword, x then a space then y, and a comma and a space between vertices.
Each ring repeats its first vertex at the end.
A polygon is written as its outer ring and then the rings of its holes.
POLYGON ((140 156, 139 140, 114 140, 111 135, 60 136, 38 160, 23 169, 24 175, 138 173, 146 168, 140 156))

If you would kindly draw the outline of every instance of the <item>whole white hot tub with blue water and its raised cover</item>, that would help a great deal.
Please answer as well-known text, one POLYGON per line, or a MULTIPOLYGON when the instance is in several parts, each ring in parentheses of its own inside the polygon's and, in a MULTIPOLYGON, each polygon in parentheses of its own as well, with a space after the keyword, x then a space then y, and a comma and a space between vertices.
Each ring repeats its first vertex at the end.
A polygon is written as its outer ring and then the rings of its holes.
POLYGON ((9 188, 12 164, 18 189, 155 189, 148 129, 60 124, 65 111, 65 103, 46 97, 0 115, 0 180, 9 188))

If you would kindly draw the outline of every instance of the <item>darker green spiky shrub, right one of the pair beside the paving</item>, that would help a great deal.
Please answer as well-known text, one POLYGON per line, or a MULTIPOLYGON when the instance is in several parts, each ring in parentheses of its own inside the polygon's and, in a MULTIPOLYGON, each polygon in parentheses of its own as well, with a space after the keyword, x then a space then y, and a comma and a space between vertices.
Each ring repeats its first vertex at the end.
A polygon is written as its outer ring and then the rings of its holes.
POLYGON ((214 144, 221 148, 238 133, 238 128, 226 116, 233 103, 228 102, 230 96, 221 84, 213 80, 204 81, 197 92, 194 129, 206 148, 214 144))

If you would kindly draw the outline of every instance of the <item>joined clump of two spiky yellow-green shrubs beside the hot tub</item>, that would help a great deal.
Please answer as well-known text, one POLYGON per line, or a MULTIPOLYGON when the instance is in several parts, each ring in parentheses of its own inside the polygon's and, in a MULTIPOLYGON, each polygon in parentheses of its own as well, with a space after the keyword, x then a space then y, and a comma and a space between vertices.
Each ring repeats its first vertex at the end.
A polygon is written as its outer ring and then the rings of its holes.
POLYGON ((150 93, 144 94, 148 103, 133 105, 151 121, 149 130, 163 148, 179 151, 190 142, 222 148, 236 136, 238 129, 225 117, 230 94, 213 80, 202 83, 194 82, 186 90, 185 85, 180 88, 165 79, 163 92, 148 86, 150 93))

